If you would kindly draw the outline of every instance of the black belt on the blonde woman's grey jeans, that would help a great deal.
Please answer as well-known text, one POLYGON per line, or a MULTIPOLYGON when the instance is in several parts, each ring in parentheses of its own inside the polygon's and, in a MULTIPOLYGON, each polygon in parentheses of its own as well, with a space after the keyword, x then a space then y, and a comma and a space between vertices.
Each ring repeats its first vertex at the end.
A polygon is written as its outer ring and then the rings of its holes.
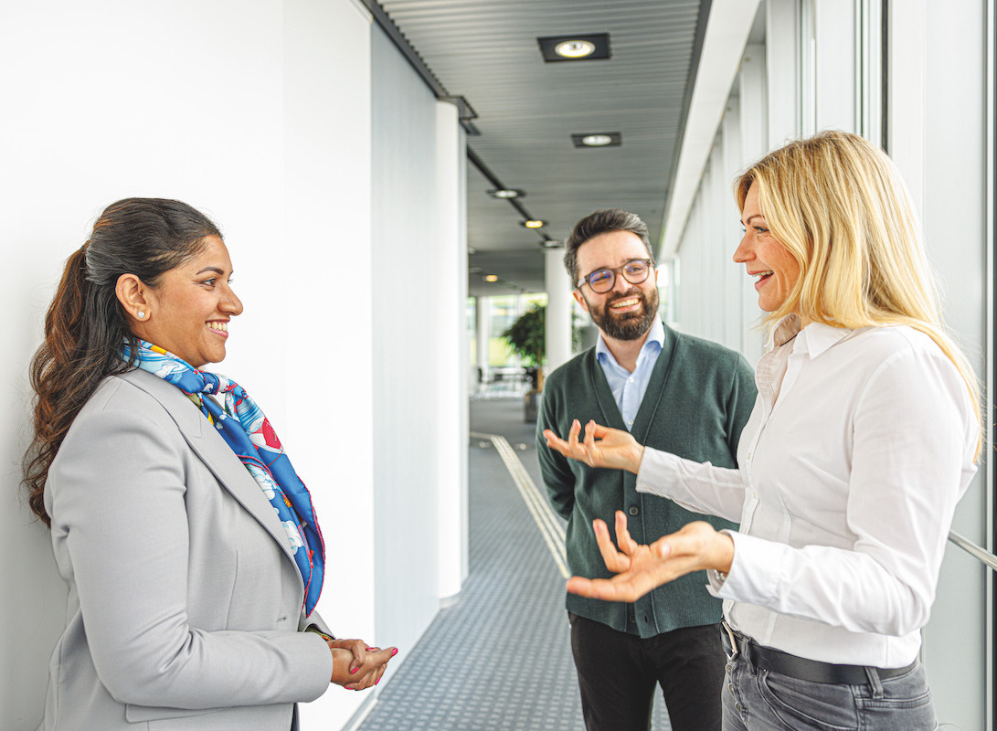
POLYGON ((809 680, 812 683, 864 685, 869 682, 868 670, 874 670, 880 680, 885 680, 908 672, 917 663, 917 660, 914 660, 906 667, 866 668, 863 665, 837 665, 832 662, 810 660, 771 647, 763 647, 751 637, 732 629, 726 621, 720 623, 720 638, 724 643, 724 651, 731 657, 740 654, 755 667, 799 680, 809 680))

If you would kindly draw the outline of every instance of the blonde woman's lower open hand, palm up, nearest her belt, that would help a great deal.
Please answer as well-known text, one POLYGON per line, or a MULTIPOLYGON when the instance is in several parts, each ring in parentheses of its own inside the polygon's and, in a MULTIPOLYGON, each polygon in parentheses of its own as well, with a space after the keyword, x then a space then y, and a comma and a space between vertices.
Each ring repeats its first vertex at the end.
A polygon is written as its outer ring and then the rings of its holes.
POLYGON ((680 531, 658 539, 650 546, 630 538, 626 515, 616 512, 616 541, 613 546, 609 529, 603 521, 594 521, 592 529, 606 568, 612 578, 568 579, 567 590, 581 596, 611 601, 636 601, 652 588, 668 583, 692 571, 714 568, 727 572, 734 560, 734 541, 717 533, 713 526, 697 521, 680 531))

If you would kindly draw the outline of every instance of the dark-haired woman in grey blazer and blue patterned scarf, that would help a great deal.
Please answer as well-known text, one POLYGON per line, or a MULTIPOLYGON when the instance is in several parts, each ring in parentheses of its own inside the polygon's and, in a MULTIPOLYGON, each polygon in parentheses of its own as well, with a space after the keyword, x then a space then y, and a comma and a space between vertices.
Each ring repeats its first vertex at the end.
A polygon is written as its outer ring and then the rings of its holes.
POLYGON ((109 206, 67 261, 25 471, 70 589, 45 731, 287 731, 295 703, 370 687, 397 651, 312 611, 307 490, 244 391, 198 370, 242 311, 230 274, 214 224, 156 198, 109 206))

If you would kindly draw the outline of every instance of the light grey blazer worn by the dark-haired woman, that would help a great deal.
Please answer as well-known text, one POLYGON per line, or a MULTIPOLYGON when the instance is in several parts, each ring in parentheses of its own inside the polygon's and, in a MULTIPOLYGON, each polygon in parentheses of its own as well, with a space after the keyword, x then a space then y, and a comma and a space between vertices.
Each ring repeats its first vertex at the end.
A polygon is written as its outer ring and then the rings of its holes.
POLYGON ((40 729, 288 731, 329 686, 273 508, 171 384, 105 379, 45 506, 69 599, 40 729))

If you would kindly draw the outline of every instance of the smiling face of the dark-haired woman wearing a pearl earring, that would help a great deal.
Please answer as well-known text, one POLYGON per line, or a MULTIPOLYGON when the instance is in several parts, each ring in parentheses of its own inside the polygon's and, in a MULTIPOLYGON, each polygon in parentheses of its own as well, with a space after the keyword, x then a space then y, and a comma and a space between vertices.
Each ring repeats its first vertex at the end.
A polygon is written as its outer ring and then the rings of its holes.
POLYGON ((205 237, 200 250, 166 271, 158 286, 139 282, 135 295, 142 302, 135 305, 138 310, 130 309, 144 316, 133 321, 132 331, 195 368, 221 361, 228 321, 242 312, 231 275, 225 244, 217 236, 205 237))

